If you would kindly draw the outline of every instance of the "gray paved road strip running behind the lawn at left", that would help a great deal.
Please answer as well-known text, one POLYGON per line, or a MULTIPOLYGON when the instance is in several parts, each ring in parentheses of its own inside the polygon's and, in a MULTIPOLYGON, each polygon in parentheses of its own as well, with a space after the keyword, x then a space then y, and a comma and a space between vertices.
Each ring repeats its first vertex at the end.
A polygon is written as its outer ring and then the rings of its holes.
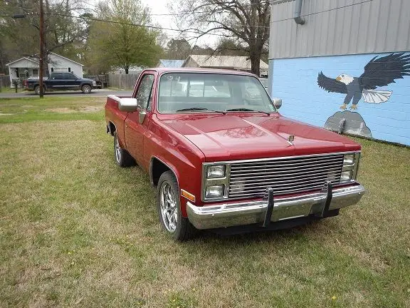
MULTIPOLYGON (((132 91, 111 90, 111 89, 95 89, 90 94, 84 94, 81 91, 53 91, 48 92, 45 96, 108 96, 108 95, 129 95, 132 91)), ((33 91, 24 92, 0 92, 0 98, 24 98, 24 97, 36 97, 33 91)))

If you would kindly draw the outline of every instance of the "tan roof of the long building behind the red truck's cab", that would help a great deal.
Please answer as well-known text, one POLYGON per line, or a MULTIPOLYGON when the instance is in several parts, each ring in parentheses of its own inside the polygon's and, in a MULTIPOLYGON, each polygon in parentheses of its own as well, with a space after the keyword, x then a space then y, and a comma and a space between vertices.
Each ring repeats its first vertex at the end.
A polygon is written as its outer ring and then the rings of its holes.
MULTIPOLYGON (((184 61, 184 63, 186 63, 189 58, 194 60, 201 67, 251 69, 251 60, 247 56, 191 55, 184 61)), ((261 60, 260 67, 263 70, 267 70, 268 64, 261 60)))

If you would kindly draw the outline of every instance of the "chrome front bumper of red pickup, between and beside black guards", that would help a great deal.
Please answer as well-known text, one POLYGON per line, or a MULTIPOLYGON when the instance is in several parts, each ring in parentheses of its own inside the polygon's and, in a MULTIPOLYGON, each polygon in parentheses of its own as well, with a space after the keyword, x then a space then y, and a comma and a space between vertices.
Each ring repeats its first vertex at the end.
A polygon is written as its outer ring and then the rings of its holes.
MULTIPOLYGON (((335 188, 329 210, 354 205, 364 195, 362 185, 335 188)), ((274 199, 271 222, 290 220, 323 212, 327 194, 323 192, 299 195, 297 197, 277 197, 274 199)), ((186 203, 186 211, 192 225, 197 229, 213 229, 235 225, 262 223, 268 210, 268 200, 234 202, 197 207, 186 203)))

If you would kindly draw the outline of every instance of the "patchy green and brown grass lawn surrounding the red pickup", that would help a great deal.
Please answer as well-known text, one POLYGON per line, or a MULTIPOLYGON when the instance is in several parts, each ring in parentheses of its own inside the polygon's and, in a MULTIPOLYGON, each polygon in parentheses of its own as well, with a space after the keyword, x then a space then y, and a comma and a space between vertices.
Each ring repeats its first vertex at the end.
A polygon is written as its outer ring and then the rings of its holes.
POLYGON ((175 243, 80 100, 0 100, 0 307, 410 307, 409 148, 359 140, 367 194, 338 217, 175 243))

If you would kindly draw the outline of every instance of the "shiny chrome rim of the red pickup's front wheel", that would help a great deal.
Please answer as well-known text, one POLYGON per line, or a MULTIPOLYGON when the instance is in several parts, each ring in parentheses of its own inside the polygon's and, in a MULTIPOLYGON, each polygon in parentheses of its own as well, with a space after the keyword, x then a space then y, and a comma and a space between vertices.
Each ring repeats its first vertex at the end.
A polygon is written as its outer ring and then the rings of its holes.
POLYGON ((178 220, 177 199, 175 198, 174 190, 172 190, 168 182, 164 182, 159 192, 162 221, 169 232, 174 232, 177 229, 178 220))

